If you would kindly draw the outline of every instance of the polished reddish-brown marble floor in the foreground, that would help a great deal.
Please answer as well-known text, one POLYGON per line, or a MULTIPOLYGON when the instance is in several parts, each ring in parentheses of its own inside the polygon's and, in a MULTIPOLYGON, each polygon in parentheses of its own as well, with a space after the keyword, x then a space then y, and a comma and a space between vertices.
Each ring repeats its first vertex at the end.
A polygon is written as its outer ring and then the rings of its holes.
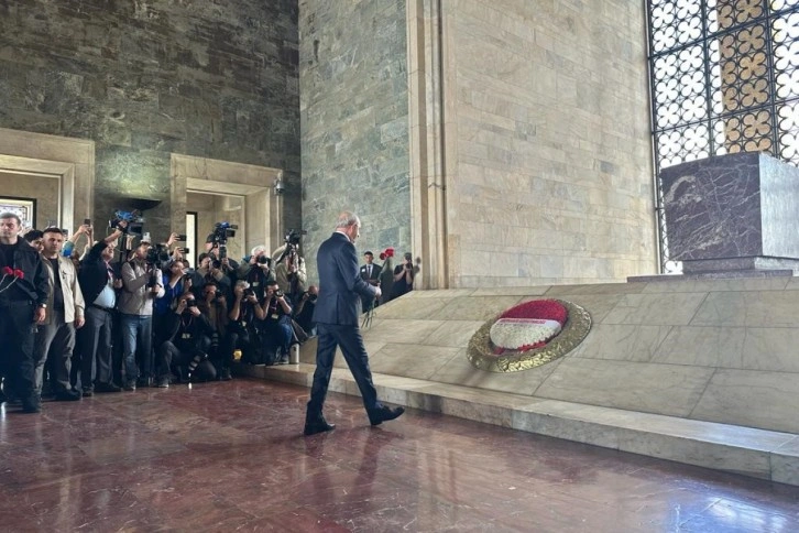
POLYGON ((0 531, 795 532, 799 489, 239 379, 0 412, 0 531))

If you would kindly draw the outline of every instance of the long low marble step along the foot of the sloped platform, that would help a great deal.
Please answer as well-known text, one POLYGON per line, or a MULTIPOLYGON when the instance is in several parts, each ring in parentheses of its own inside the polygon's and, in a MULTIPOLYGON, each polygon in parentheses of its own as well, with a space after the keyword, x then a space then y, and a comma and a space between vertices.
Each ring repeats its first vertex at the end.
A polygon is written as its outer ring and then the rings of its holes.
MULTIPOLYGON (((314 365, 238 366, 238 373, 310 388, 314 365)), ((659 414, 536 399, 413 378, 373 374, 387 403, 648 457, 799 486, 799 436, 659 414)), ((330 391, 360 396, 335 368, 330 391)))

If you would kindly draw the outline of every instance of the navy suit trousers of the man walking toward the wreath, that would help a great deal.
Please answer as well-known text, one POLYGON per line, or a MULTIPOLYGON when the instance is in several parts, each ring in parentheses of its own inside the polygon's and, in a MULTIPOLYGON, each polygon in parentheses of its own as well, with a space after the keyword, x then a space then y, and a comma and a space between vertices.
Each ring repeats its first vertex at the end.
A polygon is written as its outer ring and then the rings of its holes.
POLYGON ((316 371, 314 384, 310 389, 308 402, 308 417, 321 414, 321 409, 330 384, 336 348, 341 347, 347 366, 361 391, 363 406, 366 412, 380 409, 377 391, 372 383, 372 371, 369 368, 369 355, 363 347, 363 338, 358 326, 340 326, 333 324, 317 324, 318 345, 316 349, 316 371))

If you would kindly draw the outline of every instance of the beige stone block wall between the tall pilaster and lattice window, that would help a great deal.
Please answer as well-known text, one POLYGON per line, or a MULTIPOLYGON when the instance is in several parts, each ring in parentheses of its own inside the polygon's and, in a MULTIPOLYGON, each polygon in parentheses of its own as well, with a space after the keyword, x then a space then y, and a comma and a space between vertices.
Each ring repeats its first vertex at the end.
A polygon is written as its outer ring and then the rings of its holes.
POLYGON ((658 271, 644 3, 444 7, 450 287, 658 271))

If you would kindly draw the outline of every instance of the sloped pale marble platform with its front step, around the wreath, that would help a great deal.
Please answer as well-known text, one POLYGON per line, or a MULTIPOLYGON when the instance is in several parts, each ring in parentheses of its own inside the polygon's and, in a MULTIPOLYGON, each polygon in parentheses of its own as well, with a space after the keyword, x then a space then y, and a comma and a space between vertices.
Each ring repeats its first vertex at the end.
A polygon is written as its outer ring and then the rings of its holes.
MULTIPOLYGON (((799 486, 798 290, 780 276, 418 291, 363 336, 387 402, 799 486), (532 297, 581 305, 591 333, 533 370, 474 369, 471 335, 532 297)), ((241 371, 309 387, 314 351, 241 371)), ((358 395, 336 367, 330 390, 358 395)))

